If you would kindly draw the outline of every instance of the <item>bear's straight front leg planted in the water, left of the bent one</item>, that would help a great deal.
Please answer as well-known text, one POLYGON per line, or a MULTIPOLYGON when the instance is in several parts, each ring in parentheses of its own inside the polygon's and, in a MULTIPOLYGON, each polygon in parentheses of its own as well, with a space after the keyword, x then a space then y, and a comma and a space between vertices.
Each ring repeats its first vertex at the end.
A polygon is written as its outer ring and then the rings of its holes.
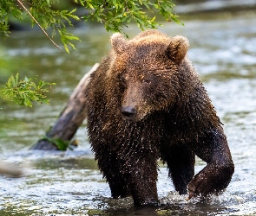
POLYGON ((154 156, 133 158, 129 162, 129 189, 135 206, 151 206, 159 203, 156 181, 157 160, 154 156))

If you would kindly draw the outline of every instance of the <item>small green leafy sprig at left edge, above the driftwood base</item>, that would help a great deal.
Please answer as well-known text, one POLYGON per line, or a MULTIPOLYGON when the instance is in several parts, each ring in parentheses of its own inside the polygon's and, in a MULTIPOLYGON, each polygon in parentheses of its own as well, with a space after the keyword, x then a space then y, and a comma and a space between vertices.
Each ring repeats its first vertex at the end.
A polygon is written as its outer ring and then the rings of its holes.
POLYGON ((36 84, 33 80, 36 78, 19 79, 19 73, 16 76, 10 76, 5 86, 0 89, 0 98, 3 100, 14 101, 20 106, 32 106, 32 101, 37 101, 42 104, 49 104, 46 99, 45 92, 49 92, 49 87, 55 83, 44 82, 39 80, 36 84))

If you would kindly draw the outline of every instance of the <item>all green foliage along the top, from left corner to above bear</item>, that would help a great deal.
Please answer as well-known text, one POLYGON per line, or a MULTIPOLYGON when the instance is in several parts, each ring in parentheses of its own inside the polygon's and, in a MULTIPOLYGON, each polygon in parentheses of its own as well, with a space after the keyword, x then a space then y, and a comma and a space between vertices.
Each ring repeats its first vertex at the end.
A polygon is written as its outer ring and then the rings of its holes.
POLYGON ((72 41, 79 40, 77 36, 70 34, 66 29, 66 25, 72 26, 74 20, 96 20, 97 22, 104 23, 107 31, 124 33, 124 28, 128 27, 128 23, 132 21, 135 21, 142 30, 155 29, 159 25, 155 22, 156 16, 150 17, 145 11, 152 14, 154 14, 154 11, 157 11, 167 21, 174 21, 181 24, 177 19, 178 16, 172 12, 174 3, 169 0, 74 0, 77 7, 82 7, 84 12, 89 12, 89 15, 82 16, 81 18, 75 15, 76 9, 53 9, 54 7, 56 8, 56 5, 61 4, 62 1, 0 0, 1 35, 5 38, 10 34, 10 16, 23 21, 24 14, 28 13, 32 26, 37 23, 42 29, 52 29, 52 37, 57 32, 61 37, 64 48, 69 52, 68 45, 75 48, 72 41))

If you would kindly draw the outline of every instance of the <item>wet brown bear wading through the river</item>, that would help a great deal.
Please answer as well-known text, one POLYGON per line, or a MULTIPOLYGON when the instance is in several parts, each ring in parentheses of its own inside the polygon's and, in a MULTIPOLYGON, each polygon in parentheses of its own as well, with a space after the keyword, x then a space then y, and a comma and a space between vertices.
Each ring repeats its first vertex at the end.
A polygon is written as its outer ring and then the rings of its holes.
POLYGON ((157 205, 158 159, 180 194, 219 194, 234 166, 220 118, 187 58, 188 41, 148 30, 125 40, 86 90, 89 142, 112 197, 157 205), (195 155, 207 166, 194 176, 195 155))

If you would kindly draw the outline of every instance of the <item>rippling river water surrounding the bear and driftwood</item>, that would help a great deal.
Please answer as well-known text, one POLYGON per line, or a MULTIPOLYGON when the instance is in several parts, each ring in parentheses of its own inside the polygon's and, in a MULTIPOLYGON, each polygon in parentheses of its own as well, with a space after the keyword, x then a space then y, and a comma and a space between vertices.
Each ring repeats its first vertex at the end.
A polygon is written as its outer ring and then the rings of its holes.
MULTIPOLYGON (((167 168, 160 162, 161 206, 134 208, 130 198, 113 200, 90 152, 86 121, 75 136, 76 149, 30 150, 54 124, 83 74, 108 53, 110 34, 100 26, 77 29, 82 41, 66 54, 41 32, 21 32, 0 42, 1 85, 10 72, 19 71, 21 76, 38 75, 56 86, 49 92, 50 105, 23 109, 0 101, 0 162, 23 170, 20 178, 0 175, 0 215, 256 214, 256 13, 220 13, 184 22, 185 27, 163 23, 161 31, 187 36, 188 55, 225 124, 235 163, 226 191, 206 200, 186 201, 187 196, 174 193, 167 168)), ((132 27, 127 33, 133 37, 139 30, 132 27)), ((197 158, 195 171, 204 166, 197 158)))

